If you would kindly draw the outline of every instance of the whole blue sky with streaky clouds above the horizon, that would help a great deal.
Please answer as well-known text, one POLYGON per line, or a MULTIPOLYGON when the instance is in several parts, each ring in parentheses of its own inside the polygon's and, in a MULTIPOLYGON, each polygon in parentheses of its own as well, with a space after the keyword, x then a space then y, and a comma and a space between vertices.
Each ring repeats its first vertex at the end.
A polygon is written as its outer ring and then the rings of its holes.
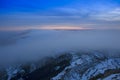
POLYGON ((0 0, 0 30, 120 29, 120 0, 0 0))

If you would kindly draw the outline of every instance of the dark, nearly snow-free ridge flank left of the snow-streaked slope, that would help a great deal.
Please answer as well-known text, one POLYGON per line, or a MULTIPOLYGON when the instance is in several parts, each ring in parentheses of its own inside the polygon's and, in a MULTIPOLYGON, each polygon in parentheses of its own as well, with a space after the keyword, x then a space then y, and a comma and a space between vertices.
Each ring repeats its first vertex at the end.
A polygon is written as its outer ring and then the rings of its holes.
POLYGON ((53 59, 49 64, 27 74, 24 80, 50 80, 52 77, 60 73, 66 66, 70 65, 70 55, 62 55, 57 59, 53 59))

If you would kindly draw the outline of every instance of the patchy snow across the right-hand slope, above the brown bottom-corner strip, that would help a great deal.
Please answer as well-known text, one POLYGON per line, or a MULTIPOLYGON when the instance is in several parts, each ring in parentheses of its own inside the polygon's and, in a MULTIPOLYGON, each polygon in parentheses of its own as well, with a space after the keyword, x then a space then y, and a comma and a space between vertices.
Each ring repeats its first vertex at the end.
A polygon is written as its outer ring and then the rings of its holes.
MULTIPOLYGON (((120 68, 120 58, 105 58, 105 56, 95 53, 93 55, 83 54, 78 56, 72 54, 73 59, 71 64, 67 66, 61 73, 53 77, 52 80, 89 80, 91 77, 94 77, 98 74, 104 74, 106 70, 109 69, 119 69, 120 68), (101 59, 97 64, 93 63, 96 59, 101 59), (105 58, 105 59, 103 59, 105 58), (90 63, 90 64, 89 64, 90 63), (83 66, 87 64, 88 66, 83 66), (89 65, 95 64, 95 66, 89 67, 89 65), (87 71, 80 73, 83 67, 88 67, 87 71)), ((100 79, 101 80, 101 79, 100 79)), ((106 80, 106 79, 105 79, 106 80)), ((109 79, 108 79, 109 80, 109 79)))

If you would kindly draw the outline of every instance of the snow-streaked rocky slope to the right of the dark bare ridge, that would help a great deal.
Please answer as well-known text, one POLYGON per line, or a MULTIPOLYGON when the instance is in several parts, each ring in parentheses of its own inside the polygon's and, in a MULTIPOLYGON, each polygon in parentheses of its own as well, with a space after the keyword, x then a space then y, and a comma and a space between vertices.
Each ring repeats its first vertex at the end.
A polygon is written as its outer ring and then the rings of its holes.
POLYGON ((120 58, 108 58, 95 52, 91 55, 73 54, 71 64, 52 80, 119 80, 119 74, 120 58), (111 79, 107 79, 109 76, 111 79))

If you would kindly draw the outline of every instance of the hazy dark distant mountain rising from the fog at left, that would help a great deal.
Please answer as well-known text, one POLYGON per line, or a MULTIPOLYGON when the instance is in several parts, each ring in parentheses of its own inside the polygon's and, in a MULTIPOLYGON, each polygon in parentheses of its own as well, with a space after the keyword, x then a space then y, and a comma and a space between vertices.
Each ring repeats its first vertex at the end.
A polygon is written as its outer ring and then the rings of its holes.
POLYGON ((0 46, 15 44, 18 40, 24 39, 30 31, 0 31, 0 46))

